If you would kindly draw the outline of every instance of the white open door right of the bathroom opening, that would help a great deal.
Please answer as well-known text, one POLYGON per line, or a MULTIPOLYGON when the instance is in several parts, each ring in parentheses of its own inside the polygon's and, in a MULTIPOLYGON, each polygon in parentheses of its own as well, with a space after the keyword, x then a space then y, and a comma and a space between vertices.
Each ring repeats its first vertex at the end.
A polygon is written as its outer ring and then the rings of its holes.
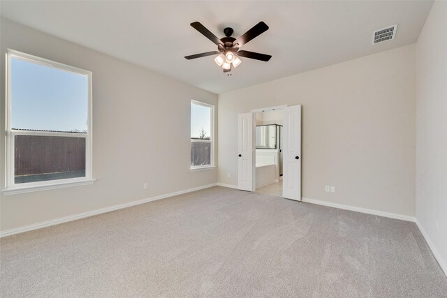
POLYGON ((301 105, 284 109, 282 196, 301 200, 301 105))

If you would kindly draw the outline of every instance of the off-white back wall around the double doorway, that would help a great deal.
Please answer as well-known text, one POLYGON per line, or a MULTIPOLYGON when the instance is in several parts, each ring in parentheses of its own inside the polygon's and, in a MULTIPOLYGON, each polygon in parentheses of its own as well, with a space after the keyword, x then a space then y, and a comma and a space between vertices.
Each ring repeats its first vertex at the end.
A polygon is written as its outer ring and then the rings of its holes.
POLYGON ((414 216, 415 50, 220 94, 219 182, 237 185, 238 113, 302 104, 303 197, 414 216))

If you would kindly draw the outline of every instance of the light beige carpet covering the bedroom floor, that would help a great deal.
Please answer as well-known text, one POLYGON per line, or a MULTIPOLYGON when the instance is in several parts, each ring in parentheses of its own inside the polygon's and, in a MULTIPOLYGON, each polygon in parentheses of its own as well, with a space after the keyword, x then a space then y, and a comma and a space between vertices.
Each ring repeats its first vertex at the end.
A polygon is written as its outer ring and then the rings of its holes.
POLYGON ((1 297, 447 297, 413 223, 209 188, 1 239, 1 297))

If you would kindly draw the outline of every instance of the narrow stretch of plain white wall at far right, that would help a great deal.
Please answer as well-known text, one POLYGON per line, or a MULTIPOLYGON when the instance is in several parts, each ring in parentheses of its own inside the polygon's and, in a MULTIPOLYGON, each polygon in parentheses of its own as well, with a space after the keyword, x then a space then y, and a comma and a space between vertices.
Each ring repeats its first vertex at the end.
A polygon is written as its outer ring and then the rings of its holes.
POLYGON ((416 219, 447 274, 447 2, 436 1, 417 45, 416 219))

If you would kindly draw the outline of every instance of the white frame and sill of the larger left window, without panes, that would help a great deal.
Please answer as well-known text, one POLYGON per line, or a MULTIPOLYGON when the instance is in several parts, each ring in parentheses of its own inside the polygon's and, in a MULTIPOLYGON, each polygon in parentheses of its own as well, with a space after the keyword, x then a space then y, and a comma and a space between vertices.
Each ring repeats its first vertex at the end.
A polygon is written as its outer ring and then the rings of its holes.
POLYGON ((6 188, 2 191, 5 195, 13 195, 16 193, 28 193, 32 191, 44 191, 47 189, 64 188, 71 186, 80 186, 93 184, 91 169, 92 156, 92 121, 91 121, 91 71, 75 68, 59 62, 43 59, 30 54, 18 52, 16 50, 6 50, 6 188), (11 58, 28 61, 33 64, 56 68, 71 73, 78 73, 87 76, 88 82, 88 103, 87 103, 87 133, 53 133, 47 131, 19 131, 11 129, 11 58), (85 177, 58 179, 49 181, 37 181, 24 184, 14 183, 14 140, 15 135, 41 135, 41 136, 57 136, 57 137, 85 137, 85 177))

